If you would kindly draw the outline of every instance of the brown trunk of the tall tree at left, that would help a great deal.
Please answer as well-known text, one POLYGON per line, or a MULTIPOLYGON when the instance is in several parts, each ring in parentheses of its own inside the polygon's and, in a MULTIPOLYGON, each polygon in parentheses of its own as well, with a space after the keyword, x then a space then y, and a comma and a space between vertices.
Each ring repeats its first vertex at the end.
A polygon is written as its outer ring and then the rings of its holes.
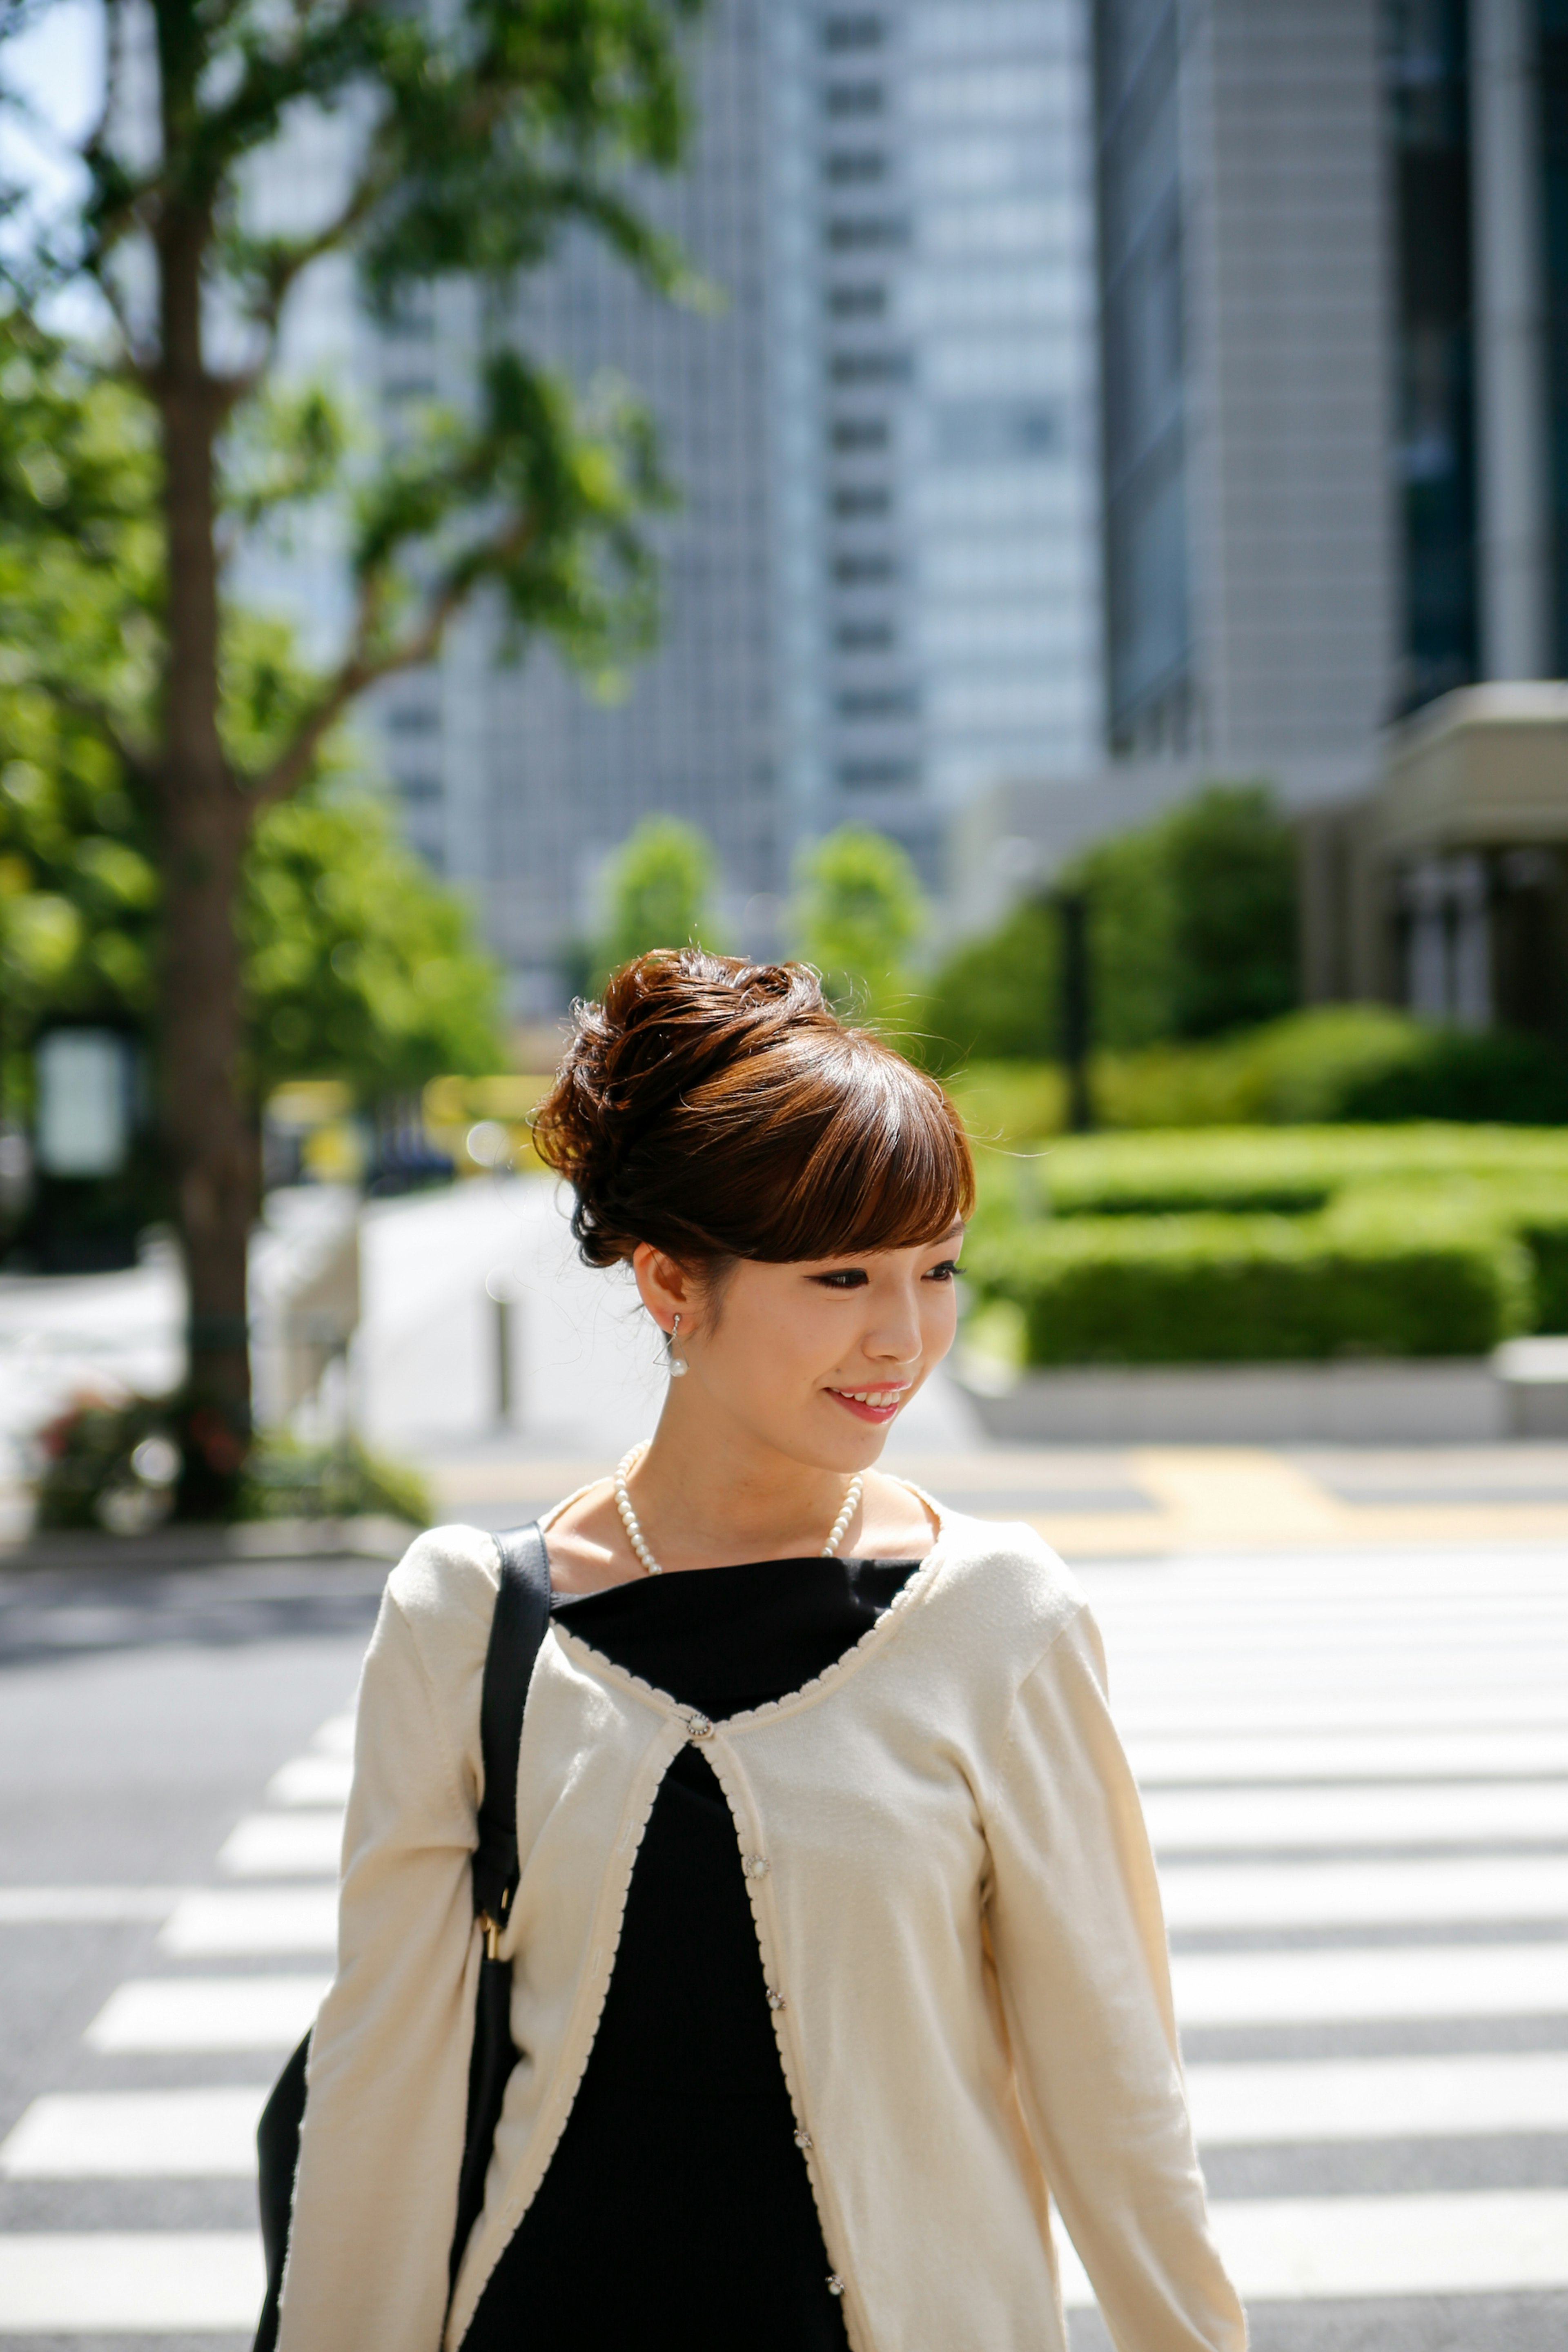
POLYGON ((214 447, 221 388, 202 358, 209 221, 174 212, 158 238, 167 670, 155 767, 165 877, 160 1108, 190 1294, 190 1421, 181 1508, 221 1510, 249 1444, 244 1254, 259 1200, 240 1082, 235 910, 249 811, 219 736, 214 447))

